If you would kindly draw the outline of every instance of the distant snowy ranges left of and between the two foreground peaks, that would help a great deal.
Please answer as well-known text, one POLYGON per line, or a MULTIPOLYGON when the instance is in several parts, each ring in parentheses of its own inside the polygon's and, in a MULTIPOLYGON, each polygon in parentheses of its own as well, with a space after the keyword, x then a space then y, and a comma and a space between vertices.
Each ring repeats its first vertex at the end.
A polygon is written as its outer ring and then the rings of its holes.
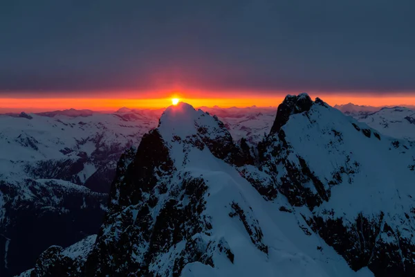
MULTIPOLYGON (((250 147, 275 117, 275 109, 257 107, 203 110, 250 147)), ((121 154, 157 127, 162 112, 0 115, 0 276, 33 267, 50 245, 68 247, 98 233, 121 154)))

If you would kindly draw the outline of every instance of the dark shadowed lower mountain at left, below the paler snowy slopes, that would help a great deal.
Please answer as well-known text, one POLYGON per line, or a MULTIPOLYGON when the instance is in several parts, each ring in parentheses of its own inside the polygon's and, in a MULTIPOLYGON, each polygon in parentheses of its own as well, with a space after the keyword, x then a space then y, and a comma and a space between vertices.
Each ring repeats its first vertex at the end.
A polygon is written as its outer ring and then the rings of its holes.
POLYGON ((56 179, 0 180, 0 276, 30 268, 53 244, 97 233, 107 195, 56 179))

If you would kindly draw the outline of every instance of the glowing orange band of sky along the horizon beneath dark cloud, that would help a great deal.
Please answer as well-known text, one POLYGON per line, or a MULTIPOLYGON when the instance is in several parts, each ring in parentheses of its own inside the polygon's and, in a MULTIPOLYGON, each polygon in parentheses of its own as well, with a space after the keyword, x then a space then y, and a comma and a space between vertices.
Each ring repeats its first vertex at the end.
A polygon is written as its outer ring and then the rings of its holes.
MULTIPOLYGON (((295 93, 291 93, 295 94, 295 93)), ((356 96, 310 93, 311 98, 320 97, 329 105, 341 105, 352 102, 356 105, 384 106, 384 105, 415 105, 415 96, 356 96)), ((57 109, 91 109, 95 111, 115 111, 121 107, 132 109, 162 109, 174 102, 187 102, 193 107, 278 107, 285 95, 270 97, 255 94, 243 95, 239 98, 0 98, 0 111, 10 109, 16 111, 36 112, 53 111, 57 109)))

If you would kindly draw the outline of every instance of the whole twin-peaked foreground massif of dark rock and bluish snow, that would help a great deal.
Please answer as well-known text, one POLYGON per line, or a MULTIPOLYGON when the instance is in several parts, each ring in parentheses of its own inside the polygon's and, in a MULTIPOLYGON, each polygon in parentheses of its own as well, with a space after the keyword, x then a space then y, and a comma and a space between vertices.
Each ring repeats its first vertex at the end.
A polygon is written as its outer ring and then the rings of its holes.
POLYGON ((98 236, 22 276, 414 276, 412 143, 301 94, 247 146, 167 108, 118 161, 98 236))

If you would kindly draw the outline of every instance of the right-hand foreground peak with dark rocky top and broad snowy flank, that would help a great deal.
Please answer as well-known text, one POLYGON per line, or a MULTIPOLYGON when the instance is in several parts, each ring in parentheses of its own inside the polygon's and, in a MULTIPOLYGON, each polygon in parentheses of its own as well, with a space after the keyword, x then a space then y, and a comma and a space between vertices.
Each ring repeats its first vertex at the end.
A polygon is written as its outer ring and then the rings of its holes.
POLYGON ((412 143, 382 136, 302 94, 279 106, 259 148, 260 168, 275 181, 270 187, 351 268, 415 274, 412 143))

